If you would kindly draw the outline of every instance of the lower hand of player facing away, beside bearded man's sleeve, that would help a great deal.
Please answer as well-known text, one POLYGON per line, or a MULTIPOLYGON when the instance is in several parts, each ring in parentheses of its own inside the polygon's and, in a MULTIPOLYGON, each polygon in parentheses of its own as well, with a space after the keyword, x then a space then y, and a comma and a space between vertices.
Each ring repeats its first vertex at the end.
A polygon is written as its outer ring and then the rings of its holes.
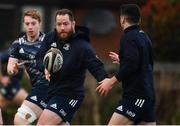
POLYGON ((100 94, 100 96, 106 96, 113 86, 109 78, 104 79, 99 82, 99 84, 100 85, 96 88, 96 91, 100 94))

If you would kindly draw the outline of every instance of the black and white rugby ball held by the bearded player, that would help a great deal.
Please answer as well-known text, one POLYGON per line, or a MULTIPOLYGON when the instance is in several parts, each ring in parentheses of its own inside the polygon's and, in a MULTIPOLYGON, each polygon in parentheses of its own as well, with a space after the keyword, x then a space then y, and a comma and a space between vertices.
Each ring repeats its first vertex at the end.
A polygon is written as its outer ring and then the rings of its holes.
POLYGON ((58 72, 63 65, 63 55, 61 51, 57 48, 51 48, 46 52, 43 63, 50 73, 58 72))

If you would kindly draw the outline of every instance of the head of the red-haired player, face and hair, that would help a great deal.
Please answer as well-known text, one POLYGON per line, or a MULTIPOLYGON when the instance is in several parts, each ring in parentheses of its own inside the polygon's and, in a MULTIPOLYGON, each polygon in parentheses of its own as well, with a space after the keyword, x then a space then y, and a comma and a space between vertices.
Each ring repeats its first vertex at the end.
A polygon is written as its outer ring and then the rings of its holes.
POLYGON ((28 37, 34 38, 39 34, 41 16, 37 10, 28 10, 23 15, 24 30, 28 37))

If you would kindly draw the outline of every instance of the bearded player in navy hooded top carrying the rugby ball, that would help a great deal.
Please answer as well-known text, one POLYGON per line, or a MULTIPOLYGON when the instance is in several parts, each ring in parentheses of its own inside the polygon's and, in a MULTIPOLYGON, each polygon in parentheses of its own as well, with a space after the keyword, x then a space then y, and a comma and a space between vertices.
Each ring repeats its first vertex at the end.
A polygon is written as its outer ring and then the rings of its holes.
MULTIPOLYGON (((55 73, 45 69, 50 81, 48 103, 41 114, 38 125, 70 124, 72 117, 84 98, 86 69, 98 82, 107 78, 103 63, 97 58, 88 36, 88 29, 75 27, 74 16, 68 9, 61 9, 55 16, 56 29, 47 34, 39 51, 38 65, 50 48, 57 48, 63 55, 62 68, 55 73)), ((44 70, 44 66, 41 70, 44 70)))

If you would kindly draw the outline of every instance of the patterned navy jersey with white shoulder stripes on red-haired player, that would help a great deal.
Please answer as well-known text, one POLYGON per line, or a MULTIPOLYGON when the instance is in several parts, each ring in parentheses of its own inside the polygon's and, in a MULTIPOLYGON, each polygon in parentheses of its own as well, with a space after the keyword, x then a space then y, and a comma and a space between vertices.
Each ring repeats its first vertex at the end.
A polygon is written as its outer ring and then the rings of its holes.
POLYGON ((39 38, 35 42, 29 42, 26 35, 15 40, 9 49, 10 57, 25 61, 24 64, 27 73, 30 76, 32 86, 47 85, 44 73, 36 67, 36 55, 41 47, 45 34, 40 33, 39 38))

